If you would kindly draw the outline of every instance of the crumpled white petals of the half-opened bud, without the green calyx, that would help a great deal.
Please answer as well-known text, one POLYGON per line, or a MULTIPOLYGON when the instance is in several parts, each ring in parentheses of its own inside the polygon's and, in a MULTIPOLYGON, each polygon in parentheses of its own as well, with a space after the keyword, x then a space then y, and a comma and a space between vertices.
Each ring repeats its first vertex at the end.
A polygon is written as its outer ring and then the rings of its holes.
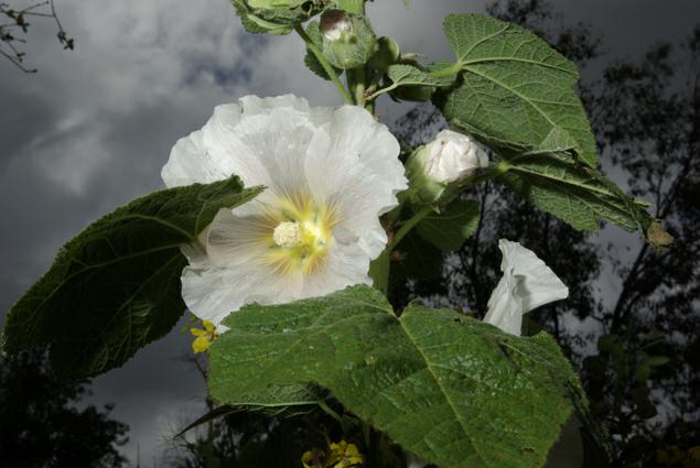
POLYGON ((457 182, 488 166, 485 148, 470 137, 443 130, 426 148, 423 171, 438 182, 457 182))

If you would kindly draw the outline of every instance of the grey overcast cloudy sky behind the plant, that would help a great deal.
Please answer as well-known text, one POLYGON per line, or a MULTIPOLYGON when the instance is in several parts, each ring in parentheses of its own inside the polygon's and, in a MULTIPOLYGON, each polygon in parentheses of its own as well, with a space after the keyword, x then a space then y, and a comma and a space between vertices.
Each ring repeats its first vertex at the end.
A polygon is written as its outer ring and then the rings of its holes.
MULTIPOLYGON (((697 0, 552 0, 568 21, 591 23, 607 58, 634 57, 659 40, 687 35, 697 0)), ((13 4, 21 4, 10 2, 13 4)), ((32 32, 25 75, 0 61, 0 317, 83 226, 162 188, 173 143, 217 104, 247 94, 294 92, 314 105, 340 99, 303 66, 294 36, 246 34, 226 0, 56 0, 76 39, 61 52, 55 31, 32 32)), ((442 18, 481 12, 483 1, 379 0, 376 30, 406 52, 449 58, 442 18)), ((380 107, 380 112, 388 112, 380 107)), ((406 107, 401 108, 406 109, 406 107)), ((174 330, 123 368, 95 380, 95 402, 116 402, 131 427, 125 454, 150 466, 169 427, 196 416, 203 382, 175 362, 190 337, 174 330)))

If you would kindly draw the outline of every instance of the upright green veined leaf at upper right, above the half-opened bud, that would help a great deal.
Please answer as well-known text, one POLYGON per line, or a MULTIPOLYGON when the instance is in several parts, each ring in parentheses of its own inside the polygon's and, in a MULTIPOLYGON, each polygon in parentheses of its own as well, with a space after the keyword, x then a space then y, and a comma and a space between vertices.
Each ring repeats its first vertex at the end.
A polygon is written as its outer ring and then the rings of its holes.
POLYGON ((482 14, 452 14, 444 32, 461 70, 433 102, 455 128, 497 149, 574 155, 596 165, 575 65, 531 32, 482 14))

